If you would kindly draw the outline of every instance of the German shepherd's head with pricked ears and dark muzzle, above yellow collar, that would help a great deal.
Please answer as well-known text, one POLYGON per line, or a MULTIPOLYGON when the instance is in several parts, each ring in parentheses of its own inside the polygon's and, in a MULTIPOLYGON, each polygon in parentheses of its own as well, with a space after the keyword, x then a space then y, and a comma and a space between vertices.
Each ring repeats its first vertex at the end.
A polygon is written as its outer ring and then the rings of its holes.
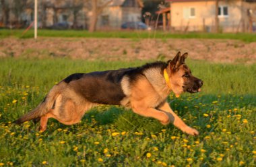
POLYGON ((187 53, 181 55, 177 53, 174 59, 168 61, 166 68, 170 79, 170 86, 174 94, 181 94, 183 92, 195 93, 201 91, 203 81, 194 77, 189 67, 185 64, 187 53))

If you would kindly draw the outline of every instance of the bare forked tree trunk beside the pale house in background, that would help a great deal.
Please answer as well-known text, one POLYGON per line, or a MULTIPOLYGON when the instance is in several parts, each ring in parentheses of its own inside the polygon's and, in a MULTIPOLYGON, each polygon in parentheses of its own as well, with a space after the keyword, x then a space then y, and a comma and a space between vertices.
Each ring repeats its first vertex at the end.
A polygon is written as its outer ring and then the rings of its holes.
POLYGON ((100 15, 100 13, 102 13, 102 10, 111 2, 113 2, 113 0, 107 1, 103 5, 98 5, 98 0, 91 0, 92 16, 90 18, 89 32, 94 32, 96 30, 98 15, 100 15))

